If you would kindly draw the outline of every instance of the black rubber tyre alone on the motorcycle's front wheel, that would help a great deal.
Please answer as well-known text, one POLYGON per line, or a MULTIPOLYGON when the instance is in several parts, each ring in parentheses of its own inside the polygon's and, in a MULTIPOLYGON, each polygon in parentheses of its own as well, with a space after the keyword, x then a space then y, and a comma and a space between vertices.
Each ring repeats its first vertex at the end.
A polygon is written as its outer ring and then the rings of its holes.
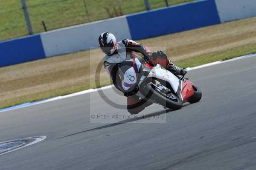
POLYGON ((180 101, 180 98, 178 98, 175 94, 172 95, 175 95, 177 101, 169 99, 166 95, 154 89, 150 84, 146 86, 144 94, 146 95, 147 98, 153 99, 157 103, 161 104, 164 107, 168 107, 169 109, 177 110, 182 107, 182 102, 180 101), (147 93, 145 94, 145 92, 147 93))

